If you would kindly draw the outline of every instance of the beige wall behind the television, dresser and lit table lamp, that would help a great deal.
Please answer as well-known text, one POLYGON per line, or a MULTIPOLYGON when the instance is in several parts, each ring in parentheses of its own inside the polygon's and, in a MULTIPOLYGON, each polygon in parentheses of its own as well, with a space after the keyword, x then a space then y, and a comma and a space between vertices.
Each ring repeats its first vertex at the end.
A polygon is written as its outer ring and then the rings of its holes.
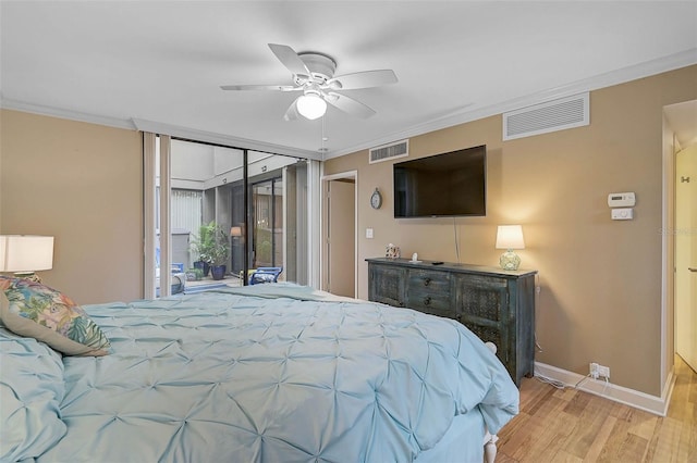
MULTIPOLYGON (((409 140, 412 158, 487 145, 488 213, 456 220, 461 260, 497 265, 497 225, 523 225, 522 266, 538 270, 541 286, 537 361, 583 375, 598 362, 612 383, 661 395, 662 108, 696 98, 690 66, 592 91, 586 127, 504 142, 497 115, 409 140), (607 196, 617 191, 636 192, 634 221, 610 220, 607 196)), ((453 220, 394 220, 392 163, 367 161, 360 151, 325 165, 326 175, 358 171, 359 298, 364 260, 388 242, 402 255, 456 260, 453 220)))

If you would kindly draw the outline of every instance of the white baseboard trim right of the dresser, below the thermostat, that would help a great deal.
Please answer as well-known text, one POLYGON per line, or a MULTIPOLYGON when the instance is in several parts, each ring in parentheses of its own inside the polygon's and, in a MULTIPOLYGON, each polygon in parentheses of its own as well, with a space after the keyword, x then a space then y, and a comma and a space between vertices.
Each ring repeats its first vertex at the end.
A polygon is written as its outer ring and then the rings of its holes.
MULTIPOLYGON (((554 379, 570 387, 575 387, 578 381, 585 378, 585 376, 577 373, 540 362, 535 362, 535 375, 554 379)), ((661 397, 613 385, 612 383, 607 384, 602 379, 592 378, 588 378, 579 384, 578 389, 659 416, 665 416, 674 385, 675 376, 671 371, 663 386, 661 397)))

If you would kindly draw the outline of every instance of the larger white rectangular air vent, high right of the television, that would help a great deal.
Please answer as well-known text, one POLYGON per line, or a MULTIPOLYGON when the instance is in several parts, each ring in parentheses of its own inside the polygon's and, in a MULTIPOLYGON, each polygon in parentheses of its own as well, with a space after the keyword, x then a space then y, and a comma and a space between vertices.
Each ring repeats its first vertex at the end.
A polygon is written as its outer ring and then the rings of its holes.
POLYGON ((503 114, 503 140, 590 124, 589 93, 548 101, 503 114))

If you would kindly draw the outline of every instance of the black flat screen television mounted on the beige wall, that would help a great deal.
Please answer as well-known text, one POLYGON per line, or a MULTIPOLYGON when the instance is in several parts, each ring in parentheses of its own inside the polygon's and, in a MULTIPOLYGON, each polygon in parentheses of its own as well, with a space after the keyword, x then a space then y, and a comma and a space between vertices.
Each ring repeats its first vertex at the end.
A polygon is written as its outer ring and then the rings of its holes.
POLYGON ((394 217, 487 215, 487 146, 412 161, 394 171, 394 217))

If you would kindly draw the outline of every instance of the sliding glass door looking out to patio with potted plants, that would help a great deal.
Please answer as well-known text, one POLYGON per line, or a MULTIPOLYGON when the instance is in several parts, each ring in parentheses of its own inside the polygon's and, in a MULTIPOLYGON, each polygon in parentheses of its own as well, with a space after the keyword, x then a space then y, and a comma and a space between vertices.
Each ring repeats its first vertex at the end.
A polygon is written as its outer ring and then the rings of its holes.
POLYGON ((307 201, 305 160, 154 141, 145 150, 146 297, 246 285, 260 266, 282 267, 279 280, 308 283, 307 228, 297 225, 307 220, 307 202, 298 207, 298 198, 307 201))

